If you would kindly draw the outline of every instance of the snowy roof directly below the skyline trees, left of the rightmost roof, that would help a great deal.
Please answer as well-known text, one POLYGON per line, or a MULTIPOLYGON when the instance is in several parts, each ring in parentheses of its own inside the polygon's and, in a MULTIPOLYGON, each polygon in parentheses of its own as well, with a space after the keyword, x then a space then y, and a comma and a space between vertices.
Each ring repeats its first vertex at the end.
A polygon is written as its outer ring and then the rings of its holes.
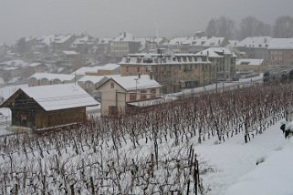
POLYGON ((267 48, 271 41, 271 36, 251 36, 246 37, 239 42, 238 46, 254 47, 254 48, 267 48))

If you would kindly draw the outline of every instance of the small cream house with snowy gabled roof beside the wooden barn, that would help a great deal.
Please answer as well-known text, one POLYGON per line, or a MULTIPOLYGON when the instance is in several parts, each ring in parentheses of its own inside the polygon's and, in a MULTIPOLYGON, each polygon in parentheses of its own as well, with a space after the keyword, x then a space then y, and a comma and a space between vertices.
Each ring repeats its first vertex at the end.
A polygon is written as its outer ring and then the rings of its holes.
POLYGON ((101 93, 101 116, 125 114, 131 103, 159 98, 161 85, 148 75, 112 76, 97 88, 101 93))

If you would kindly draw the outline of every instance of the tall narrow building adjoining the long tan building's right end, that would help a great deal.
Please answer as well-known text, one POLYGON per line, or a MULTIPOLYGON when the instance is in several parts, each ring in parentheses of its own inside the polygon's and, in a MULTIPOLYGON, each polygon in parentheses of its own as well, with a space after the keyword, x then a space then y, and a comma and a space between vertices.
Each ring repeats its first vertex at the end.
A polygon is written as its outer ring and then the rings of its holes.
POLYGON ((210 47, 198 52, 196 56, 205 56, 212 63, 210 79, 213 83, 218 80, 235 79, 235 60, 237 56, 229 49, 210 47))

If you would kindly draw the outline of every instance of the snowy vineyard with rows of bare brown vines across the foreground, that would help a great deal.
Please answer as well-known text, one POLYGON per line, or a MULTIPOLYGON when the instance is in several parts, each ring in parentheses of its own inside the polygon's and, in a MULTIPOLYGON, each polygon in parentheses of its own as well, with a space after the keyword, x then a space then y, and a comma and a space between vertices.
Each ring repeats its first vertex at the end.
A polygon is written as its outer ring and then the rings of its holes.
POLYGON ((196 157, 260 135, 291 108, 293 85, 205 93, 75 129, 0 138, 1 194, 206 194, 215 169, 196 157))

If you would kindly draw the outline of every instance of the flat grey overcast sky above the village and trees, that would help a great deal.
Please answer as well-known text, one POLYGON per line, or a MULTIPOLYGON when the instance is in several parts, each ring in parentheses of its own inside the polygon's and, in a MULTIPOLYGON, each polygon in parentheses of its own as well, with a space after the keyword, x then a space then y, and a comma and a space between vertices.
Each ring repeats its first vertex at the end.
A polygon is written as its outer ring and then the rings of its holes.
POLYGON ((0 43, 22 36, 87 32, 112 37, 187 36, 221 15, 273 24, 292 15, 293 0, 0 0, 0 43))

